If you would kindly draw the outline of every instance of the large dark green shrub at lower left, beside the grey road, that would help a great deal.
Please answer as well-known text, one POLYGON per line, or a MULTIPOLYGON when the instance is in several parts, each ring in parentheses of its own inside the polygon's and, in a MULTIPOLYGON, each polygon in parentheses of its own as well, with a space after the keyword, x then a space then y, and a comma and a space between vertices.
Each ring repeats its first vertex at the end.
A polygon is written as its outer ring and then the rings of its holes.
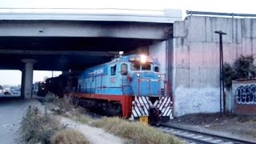
POLYGON ((56 118, 50 115, 42 114, 37 107, 31 107, 26 110, 26 116, 22 119, 20 127, 21 140, 26 143, 41 142, 50 143, 50 137, 62 126, 56 118))

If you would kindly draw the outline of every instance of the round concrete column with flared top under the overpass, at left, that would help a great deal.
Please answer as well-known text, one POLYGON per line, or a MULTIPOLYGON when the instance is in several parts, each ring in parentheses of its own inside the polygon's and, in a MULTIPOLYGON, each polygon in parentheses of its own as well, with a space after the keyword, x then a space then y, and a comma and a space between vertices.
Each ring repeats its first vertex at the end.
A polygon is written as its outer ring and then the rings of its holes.
POLYGON ((24 84, 24 98, 32 98, 32 86, 33 86, 33 66, 36 60, 34 59, 22 59, 25 62, 25 81, 24 84))

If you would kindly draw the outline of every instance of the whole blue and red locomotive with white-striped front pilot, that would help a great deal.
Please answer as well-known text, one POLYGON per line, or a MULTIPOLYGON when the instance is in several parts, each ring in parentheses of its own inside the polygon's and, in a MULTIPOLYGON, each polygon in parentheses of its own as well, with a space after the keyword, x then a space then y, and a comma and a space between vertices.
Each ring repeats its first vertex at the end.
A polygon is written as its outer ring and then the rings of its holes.
POLYGON ((172 117, 172 102, 165 74, 157 58, 132 54, 90 67, 78 76, 74 102, 108 115, 136 119, 158 114, 172 117), (152 113, 152 114, 150 114, 152 113))

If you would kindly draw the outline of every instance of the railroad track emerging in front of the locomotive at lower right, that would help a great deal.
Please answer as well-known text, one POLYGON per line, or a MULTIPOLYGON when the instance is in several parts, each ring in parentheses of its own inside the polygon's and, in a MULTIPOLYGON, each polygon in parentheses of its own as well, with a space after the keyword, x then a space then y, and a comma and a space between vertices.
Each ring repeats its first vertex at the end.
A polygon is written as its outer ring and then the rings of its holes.
POLYGON ((214 134, 206 134, 194 130, 186 130, 175 126, 167 126, 161 124, 158 127, 160 130, 174 134, 175 136, 186 140, 187 143, 204 143, 204 144, 213 144, 213 143, 220 143, 220 144, 251 144, 256 142, 244 141, 235 138, 227 138, 219 135, 214 134))

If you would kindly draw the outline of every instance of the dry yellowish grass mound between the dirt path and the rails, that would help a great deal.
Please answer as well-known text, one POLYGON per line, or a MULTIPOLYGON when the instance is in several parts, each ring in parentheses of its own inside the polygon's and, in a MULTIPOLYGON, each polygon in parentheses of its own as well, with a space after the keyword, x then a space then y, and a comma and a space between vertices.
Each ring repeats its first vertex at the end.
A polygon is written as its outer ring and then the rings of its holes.
POLYGON ((101 118, 91 123, 92 126, 102 127, 111 134, 118 135, 138 144, 170 144, 182 143, 170 134, 141 122, 127 122, 121 118, 101 118))

